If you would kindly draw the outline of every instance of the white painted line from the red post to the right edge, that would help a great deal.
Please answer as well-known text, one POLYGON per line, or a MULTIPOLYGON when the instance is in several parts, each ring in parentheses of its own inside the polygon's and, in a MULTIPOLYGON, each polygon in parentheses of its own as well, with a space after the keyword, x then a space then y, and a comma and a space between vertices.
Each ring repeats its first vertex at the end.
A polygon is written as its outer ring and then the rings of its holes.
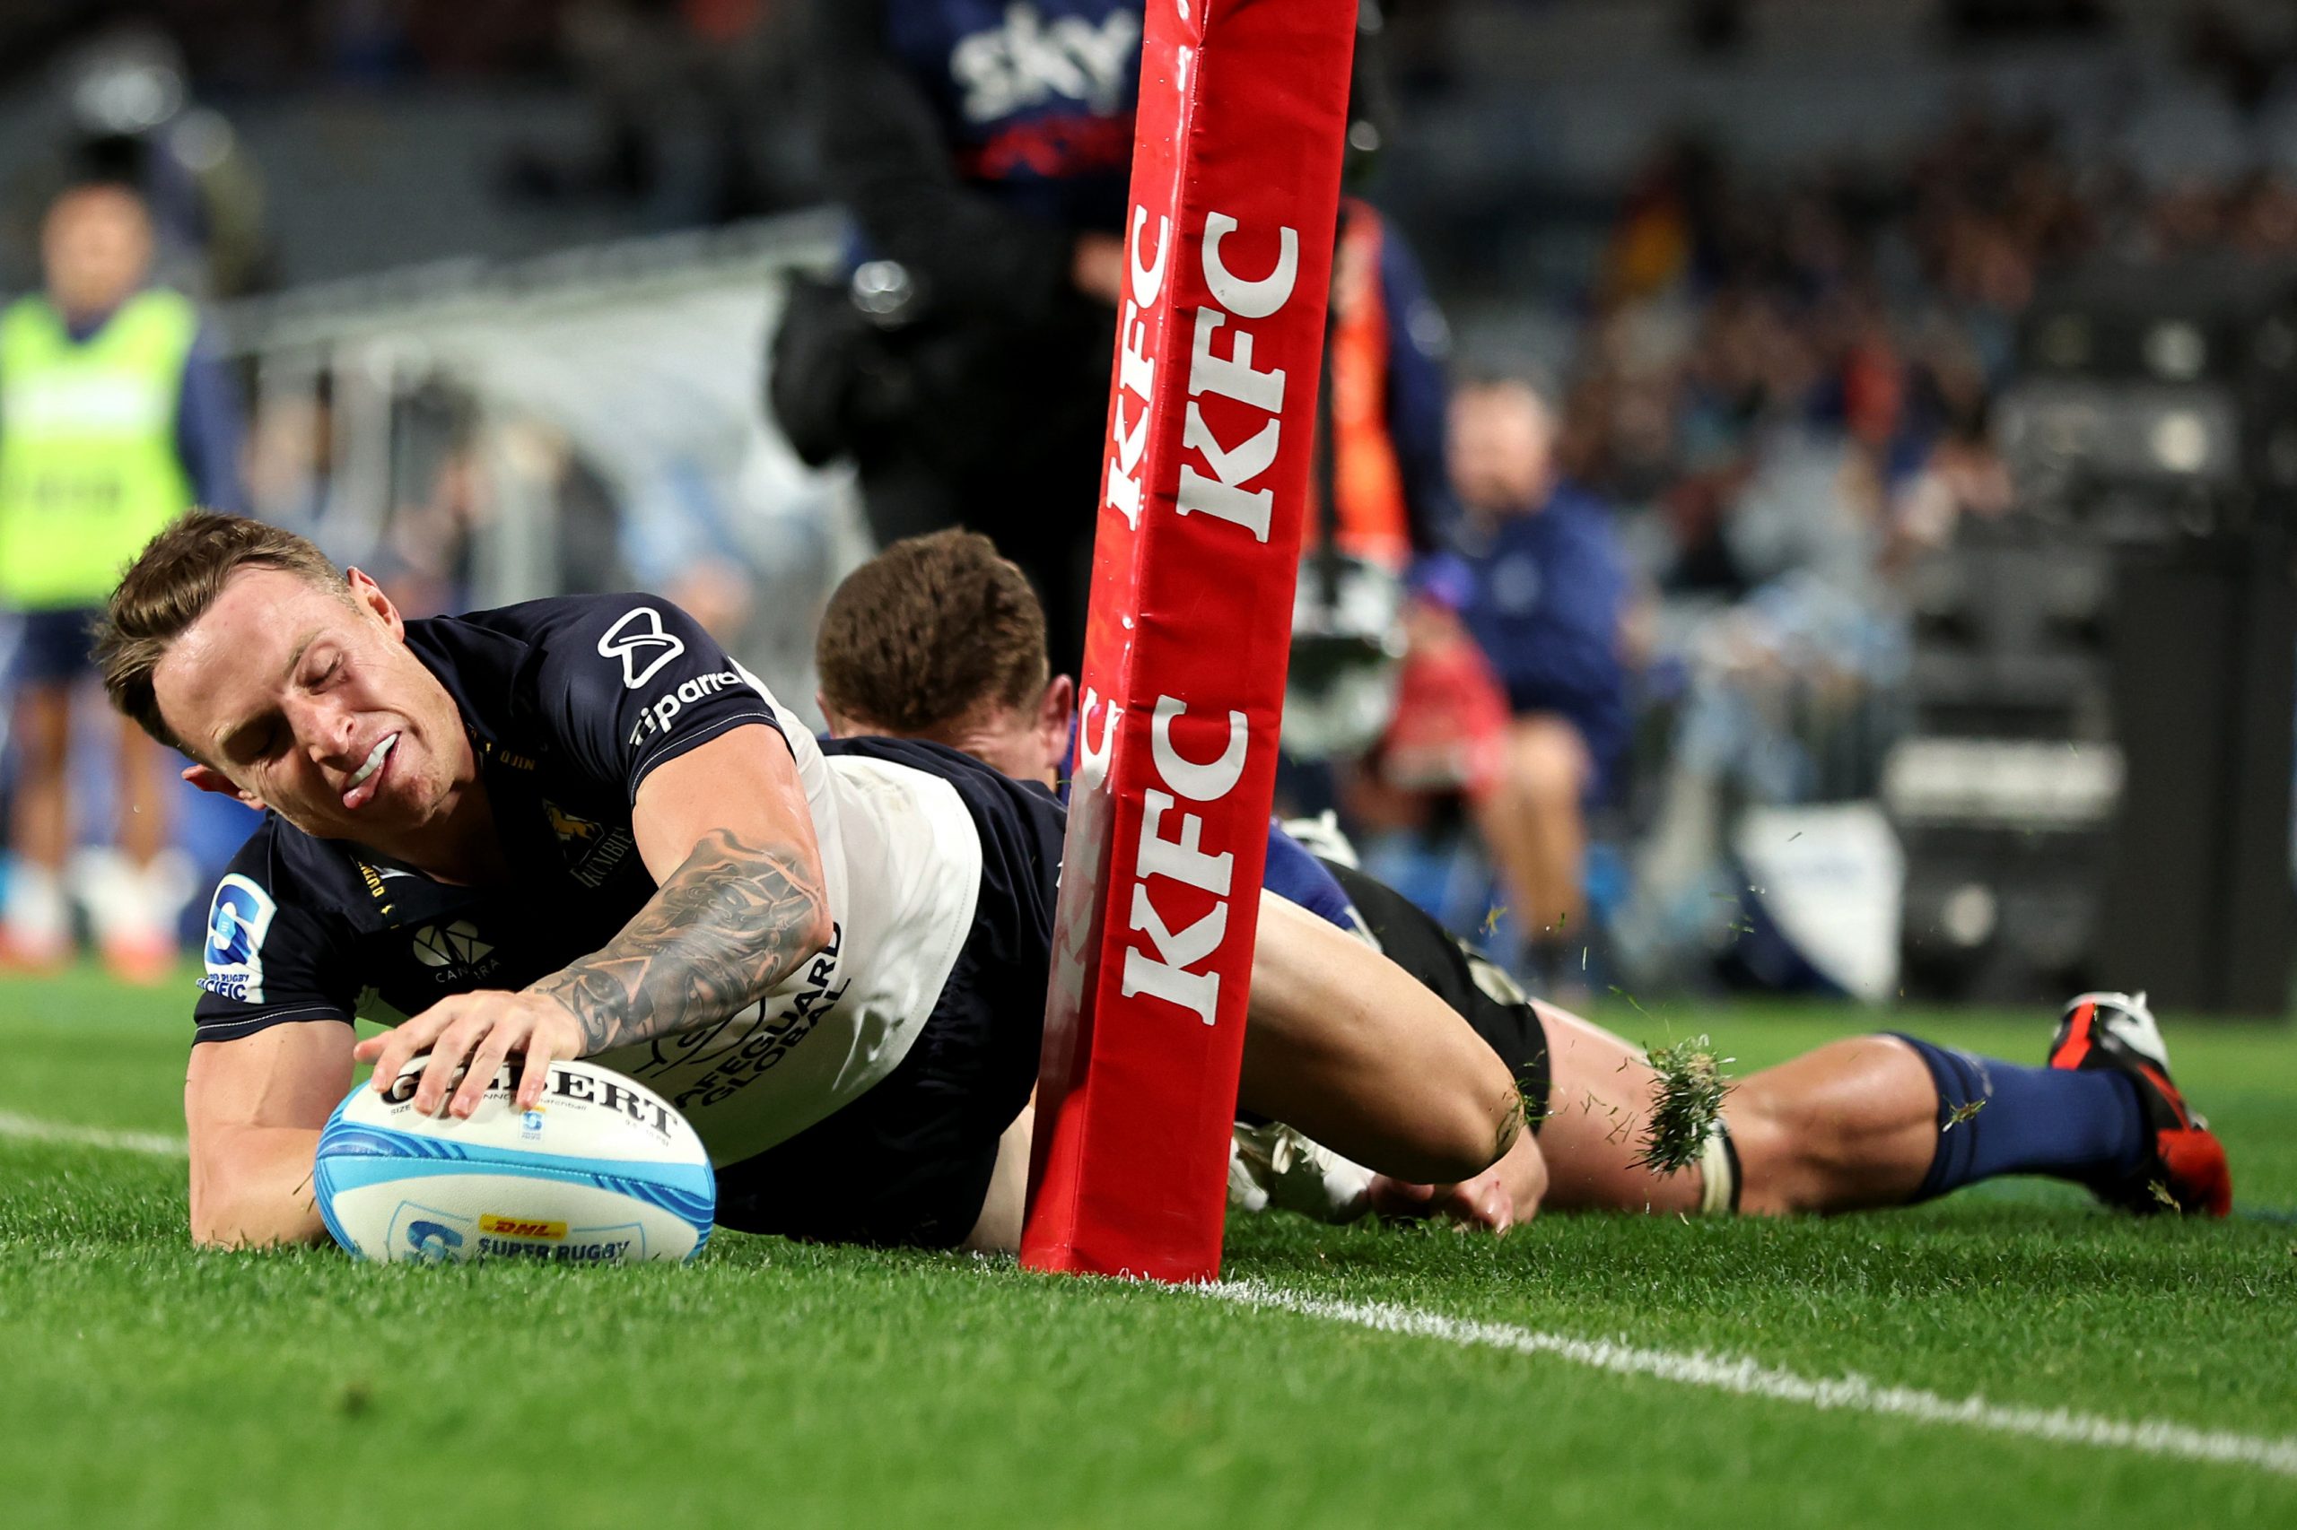
POLYGON ((1401 1332, 1420 1339, 1443 1339, 1465 1349, 1505 1349, 1518 1355, 1555 1355, 1617 1376, 1652 1376, 1691 1388, 1766 1397, 1805 1408, 1842 1413, 1881 1413, 1923 1424, 1964 1424, 1987 1434, 2017 1434, 2058 1445, 2095 1445, 2099 1450, 2136 1450, 2148 1456, 2182 1461, 2221 1461, 2253 1466, 2281 1477, 2297 1477, 2297 1438, 2191 1429, 2166 1420, 2118 1420, 2067 1408, 2019 1408, 1991 1404, 1985 1397, 1939 1397, 1916 1388, 1890 1388, 1865 1376, 1812 1378, 1780 1371, 1755 1360, 1727 1360, 1700 1351, 1635 1349, 1610 1339, 1571 1339, 1560 1332, 1537 1332, 1514 1323, 1477 1323, 1470 1319, 1417 1312, 1390 1303, 1344 1303, 1302 1291, 1284 1291, 1259 1282, 1213 1282, 1190 1286, 1240 1307, 1296 1312, 1300 1316, 1353 1323, 1378 1332, 1401 1332))

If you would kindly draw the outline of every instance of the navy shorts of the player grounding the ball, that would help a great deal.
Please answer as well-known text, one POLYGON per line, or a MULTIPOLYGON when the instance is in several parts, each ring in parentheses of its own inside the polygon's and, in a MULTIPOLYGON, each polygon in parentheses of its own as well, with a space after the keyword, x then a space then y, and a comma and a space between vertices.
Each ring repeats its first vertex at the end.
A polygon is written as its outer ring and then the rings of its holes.
POLYGON ((1052 979, 1064 809, 953 749, 843 740, 930 770, 981 829, 974 928, 910 1054, 859 1100, 719 1169, 719 1227, 820 1243, 956 1247, 981 1220, 997 1139, 1029 1103, 1052 979))

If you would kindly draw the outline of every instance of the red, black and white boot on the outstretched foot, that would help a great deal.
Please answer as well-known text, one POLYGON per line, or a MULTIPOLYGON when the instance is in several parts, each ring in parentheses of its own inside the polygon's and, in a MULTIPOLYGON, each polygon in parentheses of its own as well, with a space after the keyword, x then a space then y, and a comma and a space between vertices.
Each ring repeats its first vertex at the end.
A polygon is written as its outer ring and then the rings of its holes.
POLYGON ((2049 1043, 2049 1066, 2113 1068, 2139 1087, 2145 1153, 2129 1174, 2093 1183, 2097 1199, 2136 1215, 2191 1211, 2221 1218, 2233 1211, 2226 1144, 2171 1082, 2161 1027, 2143 992, 2086 992, 2067 1004, 2049 1043))

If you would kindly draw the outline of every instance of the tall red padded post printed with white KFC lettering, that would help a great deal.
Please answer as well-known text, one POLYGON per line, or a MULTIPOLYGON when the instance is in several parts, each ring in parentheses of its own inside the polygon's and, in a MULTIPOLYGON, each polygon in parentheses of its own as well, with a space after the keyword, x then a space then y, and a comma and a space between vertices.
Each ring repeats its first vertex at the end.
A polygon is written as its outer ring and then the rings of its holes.
POLYGON ((1022 1264, 1211 1280, 1358 0, 1148 0, 1022 1264))

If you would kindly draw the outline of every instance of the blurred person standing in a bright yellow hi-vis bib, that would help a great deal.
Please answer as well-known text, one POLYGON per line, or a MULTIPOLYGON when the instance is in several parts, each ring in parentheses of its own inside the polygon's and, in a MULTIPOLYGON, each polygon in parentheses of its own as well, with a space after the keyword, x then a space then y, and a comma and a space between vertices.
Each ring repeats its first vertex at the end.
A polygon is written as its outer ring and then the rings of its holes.
MULTIPOLYGON (((152 221, 113 184, 67 191, 41 225, 46 292, 0 312, 0 606, 18 618, 11 666, 16 802, 5 953, 71 956, 64 868, 74 850, 71 698, 90 623, 119 570, 193 503, 239 508, 237 400, 200 340, 191 299, 149 289, 152 221)), ((119 731, 119 857, 83 878, 115 972, 158 981, 175 963, 163 754, 119 731)))

